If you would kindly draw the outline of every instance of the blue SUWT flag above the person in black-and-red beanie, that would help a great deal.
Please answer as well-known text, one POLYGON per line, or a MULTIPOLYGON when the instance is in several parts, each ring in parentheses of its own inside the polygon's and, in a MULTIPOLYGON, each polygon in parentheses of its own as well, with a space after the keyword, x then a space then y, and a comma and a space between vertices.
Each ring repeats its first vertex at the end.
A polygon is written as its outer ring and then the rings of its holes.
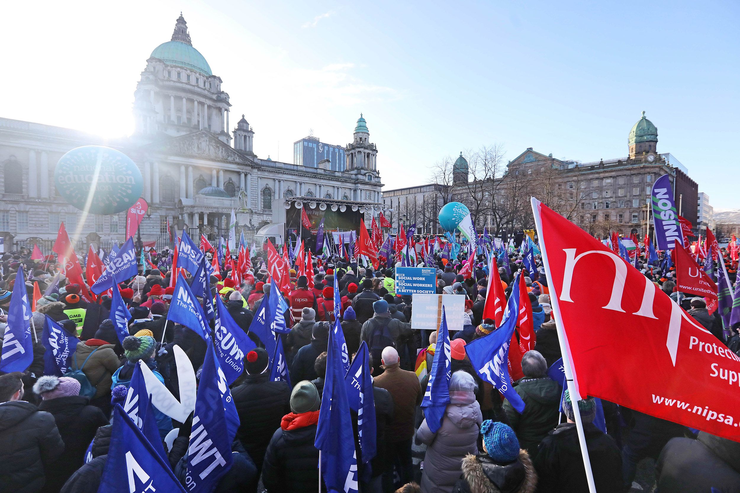
POLYGON ((221 296, 216 296, 218 315, 215 317, 215 350, 218 364, 231 385, 244 371, 244 355, 257 347, 226 310, 221 296))

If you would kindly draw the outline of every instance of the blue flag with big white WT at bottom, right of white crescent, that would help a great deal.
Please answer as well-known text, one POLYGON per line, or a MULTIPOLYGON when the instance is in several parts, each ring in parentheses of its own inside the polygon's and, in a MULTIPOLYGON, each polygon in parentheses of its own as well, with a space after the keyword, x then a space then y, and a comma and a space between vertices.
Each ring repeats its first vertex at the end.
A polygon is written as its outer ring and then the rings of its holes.
POLYGON ((211 493, 221 476, 231 469, 232 441, 239 426, 237 417, 233 427, 232 413, 224 407, 223 398, 227 395, 229 407, 236 415, 229 386, 218 367, 210 339, 207 345, 188 446, 187 476, 192 480, 188 484, 191 493, 211 493))

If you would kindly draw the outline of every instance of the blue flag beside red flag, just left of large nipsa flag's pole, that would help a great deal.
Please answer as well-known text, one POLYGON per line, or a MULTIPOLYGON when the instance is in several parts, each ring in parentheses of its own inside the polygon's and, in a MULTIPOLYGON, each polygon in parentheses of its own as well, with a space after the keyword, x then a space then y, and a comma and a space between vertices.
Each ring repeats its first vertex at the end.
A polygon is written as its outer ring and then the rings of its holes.
MULTIPOLYGON (((471 341, 465 346, 473 367, 478 374, 489 384, 496 387, 508 399, 518 412, 524 411, 524 401, 511 386, 508 374, 508 351, 511 343, 511 334, 517 325, 519 316, 519 282, 522 276, 517 276, 511 288, 511 296, 506 303, 504 318, 499 328, 488 336, 471 341)), ((436 356, 436 355, 435 355, 436 356)))

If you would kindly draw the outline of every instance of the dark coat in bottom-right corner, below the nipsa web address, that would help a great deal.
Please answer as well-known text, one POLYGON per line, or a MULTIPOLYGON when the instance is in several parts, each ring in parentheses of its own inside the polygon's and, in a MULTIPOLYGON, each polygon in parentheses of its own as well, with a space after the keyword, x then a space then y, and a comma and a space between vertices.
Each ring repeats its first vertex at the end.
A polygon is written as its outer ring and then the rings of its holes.
POLYGON ((661 492, 693 493, 710 486, 740 493, 740 443, 699 432, 696 440, 673 438, 655 466, 661 492))

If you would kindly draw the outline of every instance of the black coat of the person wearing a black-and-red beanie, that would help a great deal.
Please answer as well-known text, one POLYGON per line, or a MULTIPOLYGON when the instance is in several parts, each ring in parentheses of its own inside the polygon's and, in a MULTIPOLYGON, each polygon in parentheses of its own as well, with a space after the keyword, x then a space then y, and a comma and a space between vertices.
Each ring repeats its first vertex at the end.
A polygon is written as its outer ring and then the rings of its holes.
POLYGON ((284 381, 269 381, 269 373, 244 375, 243 383, 232 389, 232 398, 241 425, 236 433, 258 471, 265 450, 280 420, 290 412, 290 387, 284 381))

